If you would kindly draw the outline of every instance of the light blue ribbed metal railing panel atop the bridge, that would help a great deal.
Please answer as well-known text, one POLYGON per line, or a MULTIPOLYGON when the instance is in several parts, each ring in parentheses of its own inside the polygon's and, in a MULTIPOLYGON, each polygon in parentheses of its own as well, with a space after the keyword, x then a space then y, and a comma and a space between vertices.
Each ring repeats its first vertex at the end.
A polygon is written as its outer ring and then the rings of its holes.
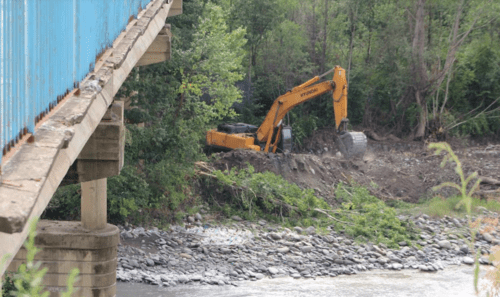
POLYGON ((152 0, 0 0, 0 161, 152 0))

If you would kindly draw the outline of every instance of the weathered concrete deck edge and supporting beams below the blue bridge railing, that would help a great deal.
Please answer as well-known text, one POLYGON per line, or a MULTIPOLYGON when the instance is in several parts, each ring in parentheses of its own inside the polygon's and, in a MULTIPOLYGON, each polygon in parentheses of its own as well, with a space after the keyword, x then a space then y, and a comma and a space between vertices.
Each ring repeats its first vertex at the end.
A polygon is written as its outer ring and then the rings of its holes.
POLYGON ((123 140, 120 132, 123 131, 120 116, 123 106, 113 104, 114 95, 133 67, 170 57, 169 27, 165 26, 165 21, 168 16, 180 13, 182 0, 152 1, 136 20, 129 23, 113 47, 96 61, 94 71, 80 83, 79 89, 70 92, 37 126, 34 141, 27 138, 11 156, 2 160, 0 256, 9 255, 10 259, 0 267, 0 275, 22 246, 28 233, 28 222, 42 214, 75 161, 91 164, 80 165, 79 182, 119 173, 123 165, 120 142, 123 140), (116 132, 111 133, 110 129, 116 132), (93 136, 94 132, 101 136, 93 136), (103 137, 106 133, 111 136, 103 137), (104 148, 99 143, 89 144, 99 142, 99 137, 104 138, 104 143, 110 139, 116 141, 104 148), (101 150, 95 153, 97 149, 101 150), (110 173, 99 176, 102 170, 96 167, 101 166, 97 163, 102 166, 112 164, 109 166, 113 168, 110 173))

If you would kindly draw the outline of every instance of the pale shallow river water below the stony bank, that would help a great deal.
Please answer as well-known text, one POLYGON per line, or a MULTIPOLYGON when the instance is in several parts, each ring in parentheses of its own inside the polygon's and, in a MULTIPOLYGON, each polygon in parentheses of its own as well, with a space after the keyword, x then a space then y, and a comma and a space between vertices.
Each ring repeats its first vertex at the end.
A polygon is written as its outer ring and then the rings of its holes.
MULTIPOLYGON (((234 286, 158 286, 117 283, 120 297, 465 297, 475 296, 471 266, 449 266, 435 273, 418 270, 373 270, 356 275, 293 279, 291 277, 239 282, 234 286)), ((484 269, 484 268, 483 268, 484 269)), ((482 272, 484 274, 484 271, 482 272)), ((480 287, 486 281, 480 281, 480 287)), ((481 294, 484 295, 484 294, 481 294)))

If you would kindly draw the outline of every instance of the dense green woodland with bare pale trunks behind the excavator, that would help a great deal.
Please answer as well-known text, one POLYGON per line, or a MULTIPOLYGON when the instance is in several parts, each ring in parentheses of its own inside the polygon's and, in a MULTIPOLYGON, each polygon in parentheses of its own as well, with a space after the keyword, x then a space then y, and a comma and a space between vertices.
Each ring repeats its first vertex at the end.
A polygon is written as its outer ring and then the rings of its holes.
MULTIPOLYGON (((341 65, 353 125, 419 139, 500 133, 497 1, 275 0, 264 14, 261 3, 226 4, 249 28, 245 99, 261 117, 287 89, 341 65)), ((298 141, 332 125, 328 97, 291 112, 298 141)))

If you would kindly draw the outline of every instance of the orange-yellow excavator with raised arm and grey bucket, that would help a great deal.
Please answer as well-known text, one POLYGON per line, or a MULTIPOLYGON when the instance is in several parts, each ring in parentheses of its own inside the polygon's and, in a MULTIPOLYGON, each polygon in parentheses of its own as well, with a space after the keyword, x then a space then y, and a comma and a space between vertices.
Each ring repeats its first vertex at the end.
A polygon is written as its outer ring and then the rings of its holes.
POLYGON ((348 132, 347 123, 347 81, 345 70, 340 66, 294 87, 279 96, 271 106, 260 127, 244 124, 221 124, 207 132, 208 148, 219 150, 252 149, 263 152, 291 152, 292 128, 284 125, 283 119, 295 106, 319 95, 333 91, 335 113, 335 143, 347 158, 362 157, 366 151, 366 136, 363 132, 348 132), (333 72, 333 79, 319 82, 333 72))

